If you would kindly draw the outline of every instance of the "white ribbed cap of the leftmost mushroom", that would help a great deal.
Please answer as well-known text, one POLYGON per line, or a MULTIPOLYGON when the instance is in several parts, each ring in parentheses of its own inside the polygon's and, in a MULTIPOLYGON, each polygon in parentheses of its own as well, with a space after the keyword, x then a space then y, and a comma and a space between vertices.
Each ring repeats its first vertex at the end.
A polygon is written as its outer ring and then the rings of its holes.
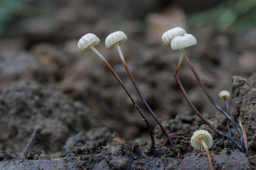
POLYGON ((80 38, 77 47, 81 53, 90 50, 89 45, 95 46, 99 44, 99 38, 94 34, 85 34, 80 38))

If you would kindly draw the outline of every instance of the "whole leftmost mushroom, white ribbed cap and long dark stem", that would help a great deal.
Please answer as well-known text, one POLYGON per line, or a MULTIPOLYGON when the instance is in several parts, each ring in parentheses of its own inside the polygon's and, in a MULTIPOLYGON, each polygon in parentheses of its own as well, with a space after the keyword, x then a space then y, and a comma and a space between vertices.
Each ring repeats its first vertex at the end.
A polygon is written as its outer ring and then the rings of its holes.
MULTIPOLYGON (((121 31, 120 31, 121 32, 121 31)), ((113 38, 114 39, 114 38, 113 38)), ((109 39, 109 42, 113 42, 113 39, 109 39)), ((126 37, 127 40, 127 37, 126 37)), ((126 41, 125 40, 125 41, 126 41)), ((127 93, 127 95, 129 96, 129 98, 131 99, 131 101, 133 102, 135 108, 137 108, 137 110, 139 111, 140 115, 143 117, 143 121, 145 121, 146 125, 148 126, 148 131, 150 133, 151 136, 151 153, 155 153, 155 143, 154 143, 154 135, 153 132, 151 130, 151 127, 149 125, 148 120, 145 118, 145 115, 143 113, 143 111, 140 109, 140 107, 137 105, 137 103, 135 102, 134 98, 131 96, 130 92, 128 91, 128 89, 125 87, 125 85, 123 84, 122 80, 119 78, 119 76, 116 74, 116 72, 113 70, 113 68, 111 67, 111 65, 108 63, 108 61, 105 59, 105 57, 102 56, 102 54, 100 54, 100 52, 98 50, 96 50, 96 48, 94 48, 94 46, 99 44, 99 38, 94 35, 94 34, 85 34, 83 37, 81 37, 81 39, 78 42, 78 49, 81 53, 84 53, 88 50, 92 50, 97 56, 99 56, 103 62, 107 65, 107 67, 110 69, 110 71, 112 72, 112 74, 114 75, 114 77, 116 77, 117 81, 119 82, 119 84, 122 86, 122 88, 125 90, 125 92, 127 93)), ((125 42, 124 41, 124 42, 125 42)), ((118 42, 120 44, 122 44, 123 42, 118 42)), ((111 45, 109 46, 109 48, 113 48, 111 45)))

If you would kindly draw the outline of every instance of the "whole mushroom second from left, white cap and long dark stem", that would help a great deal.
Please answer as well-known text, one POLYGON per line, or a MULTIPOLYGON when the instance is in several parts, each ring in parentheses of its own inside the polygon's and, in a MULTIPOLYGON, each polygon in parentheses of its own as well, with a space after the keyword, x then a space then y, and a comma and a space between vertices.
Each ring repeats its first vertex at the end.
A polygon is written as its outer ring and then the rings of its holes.
POLYGON ((151 113, 151 115, 154 117, 154 119, 156 120, 157 124, 160 126, 161 130, 163 131, 164 135, 166 136, 169 144, 171 146, 173 146, 173 142, 170 138, 170 136, 168 135, 168 133, 166 132, 165 128, 163 127, 162 123, 159 121, 158 117, 156 116, 156 114, 154 113, 154 111, 152 111, 152 109, 149 107, 148 103, 146 102, 146 100, 144 99, 143 95, 141 94, 140 92, 140 89, 139 87, 137 86, 137 83, 134 79, 134 77, 132 76, 129 68, 128 68, 128 65, 126 64, 125 62, 125 58, 122 54, 122 51, 121 51, 121 48, 120 48, 120 45, 122 45, 124 42, 127 41, 127 36, 125 35, 124 32, 122 31, 116 31, 116 32, 113 32, 112 34, 108 35, 108 37, 106 38, 105 40, 105 46, 106 48, 108 49, 113 49, 113 48, 117 48, 117 51, 119 53, 119 56, 122 60, 122 63, 125 67, 125 70, 128 74, 128 76, 130 77, 131 79, 131 82, 133 83, 134 85, 134 88, 136 89, 138 95, 140 96, 140 99, 143 101, 143 104, 145 105, 145 107, 148 109, 148 111, 151 113))

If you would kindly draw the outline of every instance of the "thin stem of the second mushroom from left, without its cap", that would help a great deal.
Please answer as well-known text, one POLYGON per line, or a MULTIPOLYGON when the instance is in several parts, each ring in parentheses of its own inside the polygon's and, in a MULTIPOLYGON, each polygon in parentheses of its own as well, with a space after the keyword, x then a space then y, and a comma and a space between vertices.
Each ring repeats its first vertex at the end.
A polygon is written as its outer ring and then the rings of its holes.
POLYGON ((120 56, 120 58, 121 58, 121 60, 122 60, 122 63, 123 63, 123 65, 124 65, 124 67, 125 67, 125 70, 126 70, 128 76, 129 76, 130 79, 131 79, 131 82, 133 83, 134 88, 136 89, 138 95, 140 96, 140 99, 142 100, 142 102, 143 102, 143 104, 145 105, 145 107, 148 109, 149 113, 151 113, 151 115, 154 117, 154 119, 156 120, 157 124, 160 126, 160 128, 161 128, 161 130, 163 131, 164 135, 166 136, 166 138, 167 138, 169 144, 170 144, 171 146, 173 146, 174 144, 173 144, 171 138, 169 137, 168 133, 166 132, 165 128, 163 127, 162 123, 159 121, 157 115, 154 113, 154 111, 152 111, 152 109, 149 107, 148 103, 146 102, 146 100, 145 100, 144 97, 142 96, 142 94, 141 94, 141 92, 140 92, 140 89, 139 89, 139 87, 137 86, 137 83, 136 83, 134 77, 132 76, 132 74, 131 74, 131 72, 130 72, 130 70, 129 70, 129 68, 128 68, 128 65, 127 65, 126 62, 125 62, 125 58, 124 58, 124 56, 123 56, 123 54, 122 54, 120 45, 119 45, 118 43, 116 43, 115 46, 116 46, 117 51, 118 51, 118 53, 119 53, 119 56, 120 56))

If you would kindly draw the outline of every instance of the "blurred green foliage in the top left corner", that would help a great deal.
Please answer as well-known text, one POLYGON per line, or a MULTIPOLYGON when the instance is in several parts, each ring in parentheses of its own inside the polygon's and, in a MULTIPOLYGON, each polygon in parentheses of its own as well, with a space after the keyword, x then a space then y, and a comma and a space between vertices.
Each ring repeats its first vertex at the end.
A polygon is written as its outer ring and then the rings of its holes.
POLYGON ((40 14, 40 8, 30 6, 30 0, 0 0, 0 35, 14 15, 32 17, 40 14))

